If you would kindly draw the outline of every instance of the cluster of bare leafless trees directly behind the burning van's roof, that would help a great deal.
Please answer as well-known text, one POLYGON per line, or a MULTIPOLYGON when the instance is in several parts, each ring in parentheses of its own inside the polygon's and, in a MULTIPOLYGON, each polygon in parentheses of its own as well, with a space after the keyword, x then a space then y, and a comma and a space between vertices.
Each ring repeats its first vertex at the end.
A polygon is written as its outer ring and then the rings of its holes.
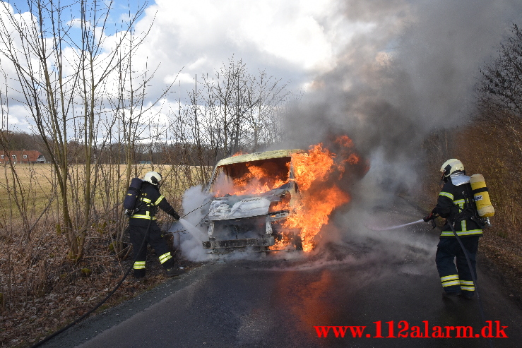
POLYGON ((204 75, 202 84, 199 93, 192 93, 191 108, 201 115, 193 126, 203 127, 198 139, 213 149, 214 160, 259 151, 280 140, 280 112, 290 97, 280 79, 264 70, 252 76, 247 65, 232 56, 215 76, 204 75))

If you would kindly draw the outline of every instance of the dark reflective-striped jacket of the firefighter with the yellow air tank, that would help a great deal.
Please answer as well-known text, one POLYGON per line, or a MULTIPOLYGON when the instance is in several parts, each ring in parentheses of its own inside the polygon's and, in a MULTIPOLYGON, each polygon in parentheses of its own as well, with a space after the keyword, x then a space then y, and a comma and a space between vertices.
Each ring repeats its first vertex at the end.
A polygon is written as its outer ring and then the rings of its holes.
POLYGON ((432 212, 446 219, 441 238, 455 238, 449 224, 453 224, 460 237, 482 236, 477 208, 471 193, 470 177, 462 172, 451 174, 439 193, 437 205, 432 212))

